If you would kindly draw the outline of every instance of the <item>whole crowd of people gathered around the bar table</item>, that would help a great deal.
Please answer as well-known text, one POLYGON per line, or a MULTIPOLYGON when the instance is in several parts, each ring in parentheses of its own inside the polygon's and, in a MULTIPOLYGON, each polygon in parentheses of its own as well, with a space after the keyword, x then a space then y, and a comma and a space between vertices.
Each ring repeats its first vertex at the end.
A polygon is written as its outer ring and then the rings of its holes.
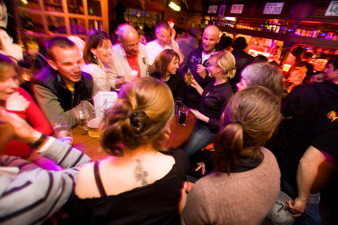
POLYGON ((28 92, 0 54, 0 224, 43 224, 65 206, 68 224, 320 224, 320 191, 338 168, 338 56, 313 73, 303 53, 292 69, 305 67, 308 84, 282 101, 282 71, 247 54, 244 37, 214 25, 200 35, 120 24, 116 44, 91 30, 83 52, 53 37, 28 92), (99 139, 109 157, 92 162, 50 137, 50 124, 74 127, 75 107, 100 91, 118 99, 99 139), (176 97, 197 119, 182 150, 160 144, 176 97), (27 161, 33 151, 59 167, 27 161))

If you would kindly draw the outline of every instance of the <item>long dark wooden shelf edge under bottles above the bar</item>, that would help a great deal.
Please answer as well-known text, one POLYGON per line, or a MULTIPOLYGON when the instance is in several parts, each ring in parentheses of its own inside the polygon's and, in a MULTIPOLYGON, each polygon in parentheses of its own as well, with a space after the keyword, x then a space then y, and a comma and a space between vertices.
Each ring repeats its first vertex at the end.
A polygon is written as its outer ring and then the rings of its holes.
POLYGON ((316 46, 316 47, 321 47, 321 48, 338 49, 338 40, 303 37, 303 36, 297 36, 293 34, 280 34, 280 33, 248 30, 248 29, 237 29, 237 28, 231 28, 231 27, 218 27, 218 28, 220 31, 225 31, 225 32, 230 32, 230 33, 269 38, 269 39, 280 40, 280 41, 285 41, 285 42, 294 43, 294 44, 304 44, 304 45, 316 46))

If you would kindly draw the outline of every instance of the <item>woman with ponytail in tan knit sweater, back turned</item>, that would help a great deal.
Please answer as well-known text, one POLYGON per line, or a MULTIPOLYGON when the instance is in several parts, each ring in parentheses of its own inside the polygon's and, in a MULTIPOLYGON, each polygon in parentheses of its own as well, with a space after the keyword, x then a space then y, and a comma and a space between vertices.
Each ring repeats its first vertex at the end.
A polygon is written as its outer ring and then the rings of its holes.
POLYGON ((280 109, 280 99, 265 87, 231 97, 214 140, 215 172, 192 186, 181 224, 261 224, 279 194, 281 173, 273 154, 260 146, 279 123, 280 109))

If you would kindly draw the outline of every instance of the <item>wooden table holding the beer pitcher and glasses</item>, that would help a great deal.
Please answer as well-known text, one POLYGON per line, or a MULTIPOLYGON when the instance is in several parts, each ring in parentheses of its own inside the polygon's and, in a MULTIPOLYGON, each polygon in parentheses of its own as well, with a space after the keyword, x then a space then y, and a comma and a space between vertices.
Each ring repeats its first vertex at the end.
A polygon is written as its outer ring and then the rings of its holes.
MULTIPOLYGON (((171 134, 169 139, 162 142, 165 148, 175 147, 183 148, 190 140, 190 136, 194 130, 196 116, 189 111, 185 126, 177 125, 177 118, 173 117, 170 123, 171 134)), ((108 154, 102 150, 98 138, 92 138, 88 135, 88 131, 80 130, 78 126, 72 129, 73 147, 84 151, 93 161, 105 158, 108 154)))

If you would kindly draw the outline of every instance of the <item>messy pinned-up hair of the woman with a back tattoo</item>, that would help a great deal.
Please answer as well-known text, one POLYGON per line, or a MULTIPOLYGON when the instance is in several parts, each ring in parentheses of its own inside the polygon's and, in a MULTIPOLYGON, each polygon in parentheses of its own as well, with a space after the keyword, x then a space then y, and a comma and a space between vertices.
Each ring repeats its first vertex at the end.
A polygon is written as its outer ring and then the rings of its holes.
POLYGON ((114 107, 107 110, 101 145, 108 154, 123 156, 124 149, 157 142, 174 114, 174 100, 168 85, 151 77, 127 83, 114 107))

